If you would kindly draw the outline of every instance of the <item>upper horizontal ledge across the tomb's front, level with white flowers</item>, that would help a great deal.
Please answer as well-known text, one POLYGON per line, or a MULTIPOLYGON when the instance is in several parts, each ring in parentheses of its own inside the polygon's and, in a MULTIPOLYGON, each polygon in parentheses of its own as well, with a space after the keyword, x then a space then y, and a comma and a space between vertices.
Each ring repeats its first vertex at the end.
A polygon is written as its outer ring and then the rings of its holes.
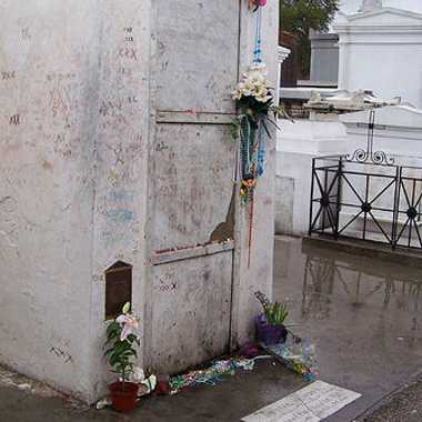
POLYGON ((231 124, 234 118, 234 113, 159 110, 155 121, 157 123, 231 124))

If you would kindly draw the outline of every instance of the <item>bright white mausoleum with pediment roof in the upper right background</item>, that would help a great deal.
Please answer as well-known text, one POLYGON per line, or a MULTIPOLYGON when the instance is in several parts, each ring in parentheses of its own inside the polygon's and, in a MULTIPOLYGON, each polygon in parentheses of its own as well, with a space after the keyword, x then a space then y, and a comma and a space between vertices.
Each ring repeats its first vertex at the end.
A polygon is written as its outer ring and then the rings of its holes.
POLYGON ((364 10, 340 13, 334 22, 339 89, 400 97, 421 108, 422 14, 389 7, 364 10))

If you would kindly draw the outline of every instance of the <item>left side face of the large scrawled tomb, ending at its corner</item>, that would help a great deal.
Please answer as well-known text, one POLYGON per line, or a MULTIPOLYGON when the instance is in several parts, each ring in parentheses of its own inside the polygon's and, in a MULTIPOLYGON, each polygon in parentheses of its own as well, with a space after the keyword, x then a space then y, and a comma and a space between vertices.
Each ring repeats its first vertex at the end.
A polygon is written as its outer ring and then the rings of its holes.
POLYGON ((98 1, 0 1, 0 361, 86 396, 98 1))

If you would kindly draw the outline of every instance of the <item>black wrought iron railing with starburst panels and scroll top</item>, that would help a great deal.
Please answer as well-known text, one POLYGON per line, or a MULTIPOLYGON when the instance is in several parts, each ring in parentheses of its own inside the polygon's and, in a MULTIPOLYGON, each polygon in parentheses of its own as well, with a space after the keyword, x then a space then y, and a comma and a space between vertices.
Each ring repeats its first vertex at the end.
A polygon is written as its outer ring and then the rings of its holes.
POLYGON ((369 150, 313 159, 310 235, 422 249, 422 167, 369 150))

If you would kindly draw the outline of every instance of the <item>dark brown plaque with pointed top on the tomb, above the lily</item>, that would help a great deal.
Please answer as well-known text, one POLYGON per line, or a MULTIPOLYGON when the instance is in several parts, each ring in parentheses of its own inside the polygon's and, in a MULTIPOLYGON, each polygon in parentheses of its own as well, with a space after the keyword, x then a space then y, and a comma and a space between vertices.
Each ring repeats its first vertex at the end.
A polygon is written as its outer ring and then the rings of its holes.
POLYGON ((117 262, 105 271, 105 319, 119 315, 132 302, 132 267, 117 262))

